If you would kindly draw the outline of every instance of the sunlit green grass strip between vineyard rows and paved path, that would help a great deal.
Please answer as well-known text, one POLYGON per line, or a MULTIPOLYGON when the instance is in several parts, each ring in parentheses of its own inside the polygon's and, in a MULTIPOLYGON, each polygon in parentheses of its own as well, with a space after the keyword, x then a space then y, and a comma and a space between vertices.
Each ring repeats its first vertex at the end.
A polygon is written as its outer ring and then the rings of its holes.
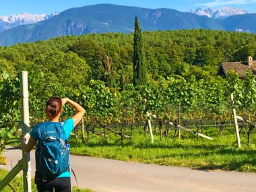
MULTIPOLYGON (((170 133, 172 134, 172 132, 170 133)), ((106 139, 90 133, 90 140, 71 139, 71 153, 82 156, 95 156, 150 164, 185 166, 207 170, 238 170, 256 172, 256 146, 247 146, 247 134, 241 133, 242 148, 238 149, 234 129, 226 129, 220 137, 216 129, 208 130, 214 140, 199 138, 192 133, 183 133, 182 139, 173 139, 172 135, 162 137, 154 134, 154 143, 150 135, 135 134, 132 139, 123 142, 119 136, 107 133, 106 139)), ((251 136, 255 143, 256 135, 251 136)))

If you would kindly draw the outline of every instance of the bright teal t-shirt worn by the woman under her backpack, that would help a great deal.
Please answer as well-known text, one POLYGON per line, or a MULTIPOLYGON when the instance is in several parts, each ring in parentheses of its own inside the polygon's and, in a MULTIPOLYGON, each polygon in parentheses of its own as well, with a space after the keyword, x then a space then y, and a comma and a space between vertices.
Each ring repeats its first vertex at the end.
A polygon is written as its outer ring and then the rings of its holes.
MULTIPOLYGON (((46 121, 44 123, 50 123, 49 121, 46 121)), ((51 123, 59 123, 59 122, 51 122, 51 123)), ((65 139, 69 139, 71 131, 73 131, 73 128, 75 127, 74 121, 72 118, 67 119, 66 121, 63 122, 63 129, 65 132, 65 139)), ((30 131, 30 136, 37 141, 39 139, 38 134, 36 133, 36 129, 32 129, 30 131)), ((59 175, 59 177, 70 177, 70 172, 63 172, 62 174, 59 175)))

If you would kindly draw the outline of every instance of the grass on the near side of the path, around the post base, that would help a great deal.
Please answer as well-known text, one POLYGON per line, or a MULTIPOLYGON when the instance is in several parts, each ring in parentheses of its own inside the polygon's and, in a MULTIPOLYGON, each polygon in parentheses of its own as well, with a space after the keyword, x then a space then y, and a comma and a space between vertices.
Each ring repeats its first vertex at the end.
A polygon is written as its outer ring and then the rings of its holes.
MULTIPOLYGON (((3 170, 0 168, 0 180, 3 179, 7 175, 8 171, 3 170)), ((23 191, 23 182, 22 182, 22 176, 18 174, 12 181, 9 183, 9 186, 7 185, 3 191, 1 192, 10 192, 10 191, 23 191), (13 188, 13 189, 12 189, 13 188)), ((34 184, 34 179, 32 180, 32 192, 36 192, 36 185, 34 184)), ((90 189, 77 189, 76 187, 73 187, 73 192, 93 192, 90 189)))

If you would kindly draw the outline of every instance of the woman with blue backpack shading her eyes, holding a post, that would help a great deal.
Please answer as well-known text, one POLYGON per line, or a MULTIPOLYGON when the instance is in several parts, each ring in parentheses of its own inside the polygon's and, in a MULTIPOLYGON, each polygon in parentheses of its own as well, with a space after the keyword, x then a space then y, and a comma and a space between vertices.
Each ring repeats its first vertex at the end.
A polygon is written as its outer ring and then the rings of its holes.
POLYGON ((22 150, 28 153, 36 145, 36 174, 34 182, 41 191, 71 191, 69 168, 69 135, 81 121, 84 108, 69 98, 51 97, 45 113, 49 121, 34 125, 30 134, 22 135, 22 150), (59 122, 64 104, 76 110, 75 115, 59 122), (37 141, 37 144, 36 144, 37 141))

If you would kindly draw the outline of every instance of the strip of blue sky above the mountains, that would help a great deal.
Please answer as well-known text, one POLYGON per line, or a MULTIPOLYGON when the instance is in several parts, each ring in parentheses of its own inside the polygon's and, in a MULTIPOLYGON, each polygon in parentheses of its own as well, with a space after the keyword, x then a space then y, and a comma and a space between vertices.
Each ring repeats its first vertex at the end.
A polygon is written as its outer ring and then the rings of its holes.
POLYGON ((0 0, 0 15, 18 13, 54 13, 72 7, 82 7, 98 3, 111 3, 116 5, 129 5, 145 8, 170 8, 179 11, 189 11, 198 7, 241 7, 256 13, 256 0, 0 0))

